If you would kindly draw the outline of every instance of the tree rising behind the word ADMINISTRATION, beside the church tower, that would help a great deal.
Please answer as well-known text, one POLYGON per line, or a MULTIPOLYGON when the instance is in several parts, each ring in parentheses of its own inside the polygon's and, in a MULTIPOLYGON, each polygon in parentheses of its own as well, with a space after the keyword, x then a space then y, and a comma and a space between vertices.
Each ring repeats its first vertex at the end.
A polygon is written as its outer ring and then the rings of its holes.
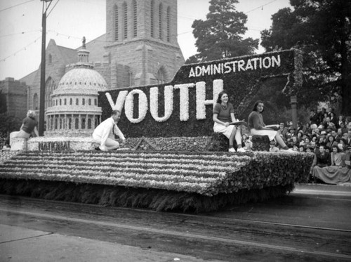
POLYGON ((247 15, 236 11, 237 0, 211 0, 207 20, 194 20, 192 28, 197 53, 186 63, 230 58, 252 54, 258 39, 243 39, 247 15))

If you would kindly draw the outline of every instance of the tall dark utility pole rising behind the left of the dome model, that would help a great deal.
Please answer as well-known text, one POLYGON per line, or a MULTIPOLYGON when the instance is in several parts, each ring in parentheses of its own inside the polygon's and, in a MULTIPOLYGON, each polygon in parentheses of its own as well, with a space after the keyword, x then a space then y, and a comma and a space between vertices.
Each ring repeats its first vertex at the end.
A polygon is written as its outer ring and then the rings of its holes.
POLYGON ((41 17, 41 72, 40 72, 40 100, 39 100, 39 136, 44 136, 45 122, 45 48, 46 48, 46 11, 52 0, 40 0, 43 2, 41 17))

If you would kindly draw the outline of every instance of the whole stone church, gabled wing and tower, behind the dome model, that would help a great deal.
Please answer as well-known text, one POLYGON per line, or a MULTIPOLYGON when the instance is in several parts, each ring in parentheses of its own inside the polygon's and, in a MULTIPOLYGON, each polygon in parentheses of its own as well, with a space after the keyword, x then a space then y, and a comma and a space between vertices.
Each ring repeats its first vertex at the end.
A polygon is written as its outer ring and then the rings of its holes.
MULTIPOLYGON (((185 62, 177 41, 176 0, 106 0, 106 34, 86 43, 89 63, 107 89, 171 81, 185 62)), ((84 34, 84 32, 82 32, 84 34)), ((77 49, 46 48, 45 109, 64 74, 77 63, 77 49)), ((28 109, 39 114, 40 67, 20 79, 28 88, 28 109)))

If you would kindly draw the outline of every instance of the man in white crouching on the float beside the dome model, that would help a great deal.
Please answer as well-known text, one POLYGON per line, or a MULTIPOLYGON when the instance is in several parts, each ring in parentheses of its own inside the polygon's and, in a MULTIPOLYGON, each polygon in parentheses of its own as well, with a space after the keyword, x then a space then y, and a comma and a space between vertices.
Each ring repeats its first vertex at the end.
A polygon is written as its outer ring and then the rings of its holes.
POLYGON ((100 149, 102 151, 108 151, 119 148, 119 143, 114 140, 114 135, 121 138, 121 146, 126 143, 126 138, 124 138, 123 133, 117 126, 120 117, 121 112, 119 112, 119 110, 112 110, 111 117, 107 118, 95 128, 93 132, 93 140, 95 143, 100 144, 98 148, 95 148, 96 150, 100 149))

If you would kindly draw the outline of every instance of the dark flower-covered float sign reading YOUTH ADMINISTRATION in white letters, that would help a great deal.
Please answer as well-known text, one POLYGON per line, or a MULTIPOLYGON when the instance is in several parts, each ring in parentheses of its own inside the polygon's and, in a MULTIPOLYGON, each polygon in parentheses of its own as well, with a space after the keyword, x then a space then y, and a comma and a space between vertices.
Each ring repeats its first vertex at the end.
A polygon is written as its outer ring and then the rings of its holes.
POLYGON ((119 127, 129 138, 210 136, 213 100, 220 91, 227 91, 235 116, 247 119, 245 110, 265 86, 277 88, 263 100, 277 92, 296 93, 302 84, 301 59, 298 50, 287 50, 183 65, 170 83, 99 92, 102 119, 110 117, 112 107, 121 110, 119 127), (279 63, 271 62, 278 58, 279 63))

